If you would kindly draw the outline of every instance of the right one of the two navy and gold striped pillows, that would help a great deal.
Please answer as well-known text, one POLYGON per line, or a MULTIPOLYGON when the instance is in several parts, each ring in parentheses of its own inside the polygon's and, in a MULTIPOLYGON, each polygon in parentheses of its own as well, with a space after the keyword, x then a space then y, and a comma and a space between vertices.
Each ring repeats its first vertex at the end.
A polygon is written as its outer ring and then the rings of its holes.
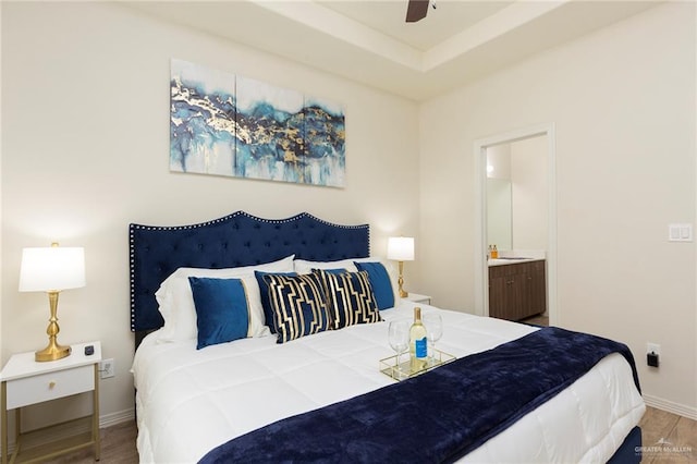
POLYGON ((332 329, 382 320, 367 271, 314 272, 325 283, 332 329))

